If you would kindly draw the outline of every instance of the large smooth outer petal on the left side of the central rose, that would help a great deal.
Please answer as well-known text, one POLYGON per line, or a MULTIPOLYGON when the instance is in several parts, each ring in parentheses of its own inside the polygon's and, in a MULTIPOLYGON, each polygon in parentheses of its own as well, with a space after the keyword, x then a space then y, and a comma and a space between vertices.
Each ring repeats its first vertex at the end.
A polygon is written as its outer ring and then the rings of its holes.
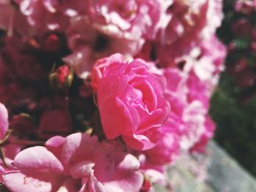
POLYGON ((105 77, 99 83, 98 102, 102 127, 107 139, 132 133, 132 116, 118 95, 125 91, 127 78, 105 77))

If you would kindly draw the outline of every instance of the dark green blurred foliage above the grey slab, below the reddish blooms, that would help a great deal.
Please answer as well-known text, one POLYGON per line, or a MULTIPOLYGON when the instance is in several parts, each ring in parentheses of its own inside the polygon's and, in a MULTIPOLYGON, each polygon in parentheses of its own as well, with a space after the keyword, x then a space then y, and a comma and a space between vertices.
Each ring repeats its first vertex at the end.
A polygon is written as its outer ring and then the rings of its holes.
POLYGON ((256 98, 244 104, 238 94, 233 78, 223 73, 211 99, 210 114, 217 124, 214 139, 256 176, 256 98))

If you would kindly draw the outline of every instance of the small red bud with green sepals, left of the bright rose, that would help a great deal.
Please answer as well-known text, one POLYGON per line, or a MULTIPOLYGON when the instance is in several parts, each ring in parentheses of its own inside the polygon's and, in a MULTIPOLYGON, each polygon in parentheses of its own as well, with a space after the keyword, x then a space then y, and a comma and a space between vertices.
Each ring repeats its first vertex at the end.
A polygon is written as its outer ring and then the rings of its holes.
POLYGON ((73 71, 69 66, 59 66, 54 72, 49 75, 50 85, 56 89, 67 89, 71 86, 73 80, 73 71))

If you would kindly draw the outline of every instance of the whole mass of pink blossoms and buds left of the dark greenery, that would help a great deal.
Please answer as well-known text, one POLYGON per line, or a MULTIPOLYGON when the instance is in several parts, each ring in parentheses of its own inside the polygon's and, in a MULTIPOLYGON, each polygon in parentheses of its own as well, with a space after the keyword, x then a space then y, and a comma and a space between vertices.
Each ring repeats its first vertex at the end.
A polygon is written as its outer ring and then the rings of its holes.
POLYGON ((18 191, 153 191, 203 152, 222 0, 0 2, 0 180, 18 191))

